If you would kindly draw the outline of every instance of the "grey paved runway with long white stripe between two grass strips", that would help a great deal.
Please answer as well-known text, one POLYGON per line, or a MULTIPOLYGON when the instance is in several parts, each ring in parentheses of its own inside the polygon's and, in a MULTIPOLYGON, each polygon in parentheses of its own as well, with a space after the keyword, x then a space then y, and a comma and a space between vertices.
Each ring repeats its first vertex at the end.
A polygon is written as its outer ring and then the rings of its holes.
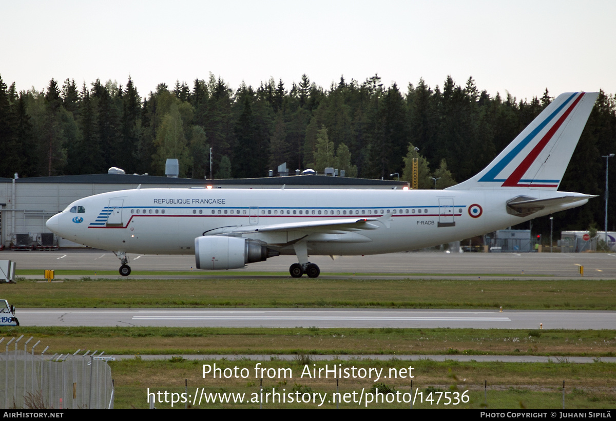
POLYGON ((22 326, 614 329, 616 311, 25 308, 18 318, 22 326))

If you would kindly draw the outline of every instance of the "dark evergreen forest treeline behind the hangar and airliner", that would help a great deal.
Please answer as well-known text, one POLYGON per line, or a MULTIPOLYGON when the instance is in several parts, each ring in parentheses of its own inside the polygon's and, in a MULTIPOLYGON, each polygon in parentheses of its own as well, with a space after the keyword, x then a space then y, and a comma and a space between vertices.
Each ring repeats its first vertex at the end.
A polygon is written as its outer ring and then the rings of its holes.
MULTIPOLYGON (((41 92, 17 91, 0 78, 0 177, 98 174, 111 166, 164 175, 166 158, 177 158, 180 177, 264 177, 287 162, 291 171, 333 166, 352 177, 410 180, 416 157, 419 188, 434 188, 434 178, 444 188, 483 169, 551 100, 547 89, 517 100, 451 77, 434 88, 420 79, 405 92, 376 75, 323 89, 306 74, 291 86, 270 79, 233 90, 210 74, 192 86, 159 84, 144 97, 131 78, 126 86, 97 80, 81 87, 52 79, 41 92)), ((616 153, 616 97, 601 92, 560 190, 603 197, 601 155, 609 153, 616 153)), ((554 223, 602 227, 603 217, 594 199, 554 223)))

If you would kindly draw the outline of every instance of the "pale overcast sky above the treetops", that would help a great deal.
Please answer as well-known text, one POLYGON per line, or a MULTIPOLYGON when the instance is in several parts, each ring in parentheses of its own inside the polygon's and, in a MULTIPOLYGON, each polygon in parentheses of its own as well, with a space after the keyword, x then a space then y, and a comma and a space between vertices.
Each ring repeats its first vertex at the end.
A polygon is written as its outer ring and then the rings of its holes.
POLYGON ((616 1, 0 0, 0 76, 126 85, 221 77, 232 89, 306 73, 325 89, 375 73, 402 92, 472 76, 490 95, 616 93, 616 1))

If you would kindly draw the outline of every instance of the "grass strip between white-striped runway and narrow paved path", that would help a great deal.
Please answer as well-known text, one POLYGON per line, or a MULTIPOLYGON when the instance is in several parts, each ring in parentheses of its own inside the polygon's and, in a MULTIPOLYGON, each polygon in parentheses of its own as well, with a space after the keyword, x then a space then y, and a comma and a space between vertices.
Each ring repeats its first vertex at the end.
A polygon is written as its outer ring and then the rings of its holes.
MULTIPOLYGON (((54 353, 108 355, 614 356, 614 330, 342 329, 294 327, 5 327, 54 353)), ((42 349, 42 348, 41 348, 42 349)))

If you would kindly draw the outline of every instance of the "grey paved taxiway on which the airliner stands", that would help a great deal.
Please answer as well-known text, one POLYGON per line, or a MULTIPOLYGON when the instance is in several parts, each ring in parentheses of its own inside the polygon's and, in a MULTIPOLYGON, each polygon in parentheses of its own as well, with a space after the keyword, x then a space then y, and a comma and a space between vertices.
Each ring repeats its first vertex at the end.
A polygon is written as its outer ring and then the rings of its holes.
MULTIPOLYGON (((194 269, 195 258, 192 255, 129 255, 132 277, 148 277, 150 270, 188 271, 194 269)), ((119 260, 110 252, 104 251, 57 251, 57 252, 0 252, 1 260, 17 262, 18 269, 80 269, 80 270, 116 270, 119 260)), ((452 253, 444 252, 409 252, 370 256, 343 256, 331 260, 327 256, 315 256, 310 260, 321 268, 321 276, 328 273, 365 273, 387 274, 378 278, 407 276, 416 274, 423 278, 425 274, 441 275, 511 275, 533 278, 551 276, 563 279, 579 278, 580 265, 584 267, 585 278, 615 279, 616 254, 603 253, 452 253)), ((288 268, 295 263, 294 256, 280 256, 265 262, 251 263, 246 268, 225 271, 230 276, 242 276, 247 271, 278 271, 288 276, 288 268)), ((217 277, 220 275, 208 271, 195 270, 198 277, 217 277)), ((118 278, 120 276, 118 275, 118 278)), ((174 276, 171 276, 173 278, 174 276)), ((166 276, 169 278, 169 276, 166 276)))

